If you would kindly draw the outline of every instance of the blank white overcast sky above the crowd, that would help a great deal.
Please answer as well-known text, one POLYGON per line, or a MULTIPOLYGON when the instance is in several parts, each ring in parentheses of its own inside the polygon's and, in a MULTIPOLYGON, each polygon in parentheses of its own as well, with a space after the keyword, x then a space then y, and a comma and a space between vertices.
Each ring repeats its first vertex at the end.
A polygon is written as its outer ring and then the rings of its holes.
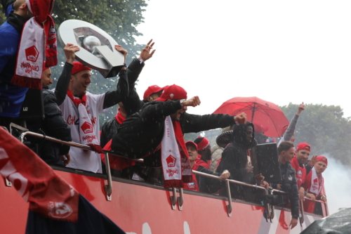
POLYGON ((157 51, 147 86, 178 84, 207 114, 236 96, 277 105, 340 105, 351 116, 351 1, 147 1, 144 34, 157 51), (249 86, 249 88, 245 87, 249 86))

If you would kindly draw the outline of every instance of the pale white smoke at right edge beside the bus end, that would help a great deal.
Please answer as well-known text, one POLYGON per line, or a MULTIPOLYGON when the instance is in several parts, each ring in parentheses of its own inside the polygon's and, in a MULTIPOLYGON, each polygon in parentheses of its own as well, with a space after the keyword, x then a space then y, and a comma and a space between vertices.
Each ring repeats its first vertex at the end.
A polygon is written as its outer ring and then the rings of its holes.
POLYGON ((351 168, 345 167, 341 162, 327 154, 328 167, 323 173, 324 187, 328 199, 329 214, 338 211, 339 208, 351 207, 351 168))

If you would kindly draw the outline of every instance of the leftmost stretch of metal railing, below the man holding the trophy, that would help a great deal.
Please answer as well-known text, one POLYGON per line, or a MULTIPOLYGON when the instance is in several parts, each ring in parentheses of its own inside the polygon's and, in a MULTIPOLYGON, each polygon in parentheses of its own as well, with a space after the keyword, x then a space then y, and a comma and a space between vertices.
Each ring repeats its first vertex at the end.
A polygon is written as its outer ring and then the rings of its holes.
MULTIPOLYGON (((27 136, 27 135, 28 136, 34 136, 34 137, 37 137, 37 138, 42 138, 42 139, 48 140, 48 141, 53 141, 55 143, 60 143, 62 145, 73 146, 73 147, 76 147, 76 148, 80 148, 82 150, 95 151, 88 145, 81 145, 79 143, 74 143, 74 142, 71 142, 71 141, 61 141, 61 140, 58 140, 58 139, 53 138, 51 136, 44 136, 44 135, 41 135, 41 134, 34 133, 32 131, 22 132, 22 134, 20 135, 20 140, 21 140, 22 143, 23 143, 23 141, 25 139, 25 136, 27 136)), ((115 157, 122 157, 122 156, 114 155, 113 152, 108 151, 108 150, 102 150, 102 152, 105 154, 105 165, 106 165, 106 174, 107 174, 107 185, 105 185, 105 193, 106 193, 106 199, 108 201, 110 201, 112 199, 112 197, 111 197, 111 195, 112 195, 112 176, 111 176, 111 169, 110 169, 110 160, 109 160, 108 156, 109 155, 112 155, 112 156, 115 156, 115 157)), ((140 159, 140 160, 133 160, 133 161, 143 162, 142 159, 140 159)))

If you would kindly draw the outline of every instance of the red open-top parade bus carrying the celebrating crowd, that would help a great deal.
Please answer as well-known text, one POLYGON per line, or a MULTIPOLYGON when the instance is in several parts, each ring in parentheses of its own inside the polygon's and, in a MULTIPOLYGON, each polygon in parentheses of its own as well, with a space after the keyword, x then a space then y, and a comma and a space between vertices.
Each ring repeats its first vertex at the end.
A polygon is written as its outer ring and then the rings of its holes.
MULTIPOLYGON (((87 145, 60 141, 29 131, 22 132, 22 141, 25 136, 45 138, 45 141, 91 150, 87 145)), ((299 223, 291 230, 289 204, 278 207, 270 204, 269 200, 257 203, 238 200, 232 197, 229 188, 238 185, 253 187, 263 195, 284 193, 280 190, 267 190, 230 179, 223 181, 217 176, 198 171, 193 173, 225 183, 227 195, 154 186, 142 181, 112 176, 108 161, 108 155, 112 155, 112 152, 104 153, 105 174, 67 167, 51 167, 126 233, 300 233, 313 221, 329 215, 326 202, 316 201, 320 204, 319 212, 310 214, 301 209, 299 223)), ((25 233, 29 203, 22 199, 10 181, 2 178, 0 233, 25 233)), ((302 202, 300 204, 302 205, 302 202)))

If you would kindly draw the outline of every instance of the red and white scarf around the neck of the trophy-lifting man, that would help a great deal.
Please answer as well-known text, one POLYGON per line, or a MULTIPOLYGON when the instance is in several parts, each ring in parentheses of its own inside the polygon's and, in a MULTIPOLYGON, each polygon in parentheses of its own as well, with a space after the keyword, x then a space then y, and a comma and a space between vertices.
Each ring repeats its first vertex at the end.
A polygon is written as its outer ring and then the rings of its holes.
POLYGON ((82 145, 89 145, 95 152, 102 153, 102 148, 94 132, 93 124, 86 110, 86 94, 79 98, 74 98, 71 91, 67 91, 67 96, 71 98, 79 112, 79 139, 82 145))

